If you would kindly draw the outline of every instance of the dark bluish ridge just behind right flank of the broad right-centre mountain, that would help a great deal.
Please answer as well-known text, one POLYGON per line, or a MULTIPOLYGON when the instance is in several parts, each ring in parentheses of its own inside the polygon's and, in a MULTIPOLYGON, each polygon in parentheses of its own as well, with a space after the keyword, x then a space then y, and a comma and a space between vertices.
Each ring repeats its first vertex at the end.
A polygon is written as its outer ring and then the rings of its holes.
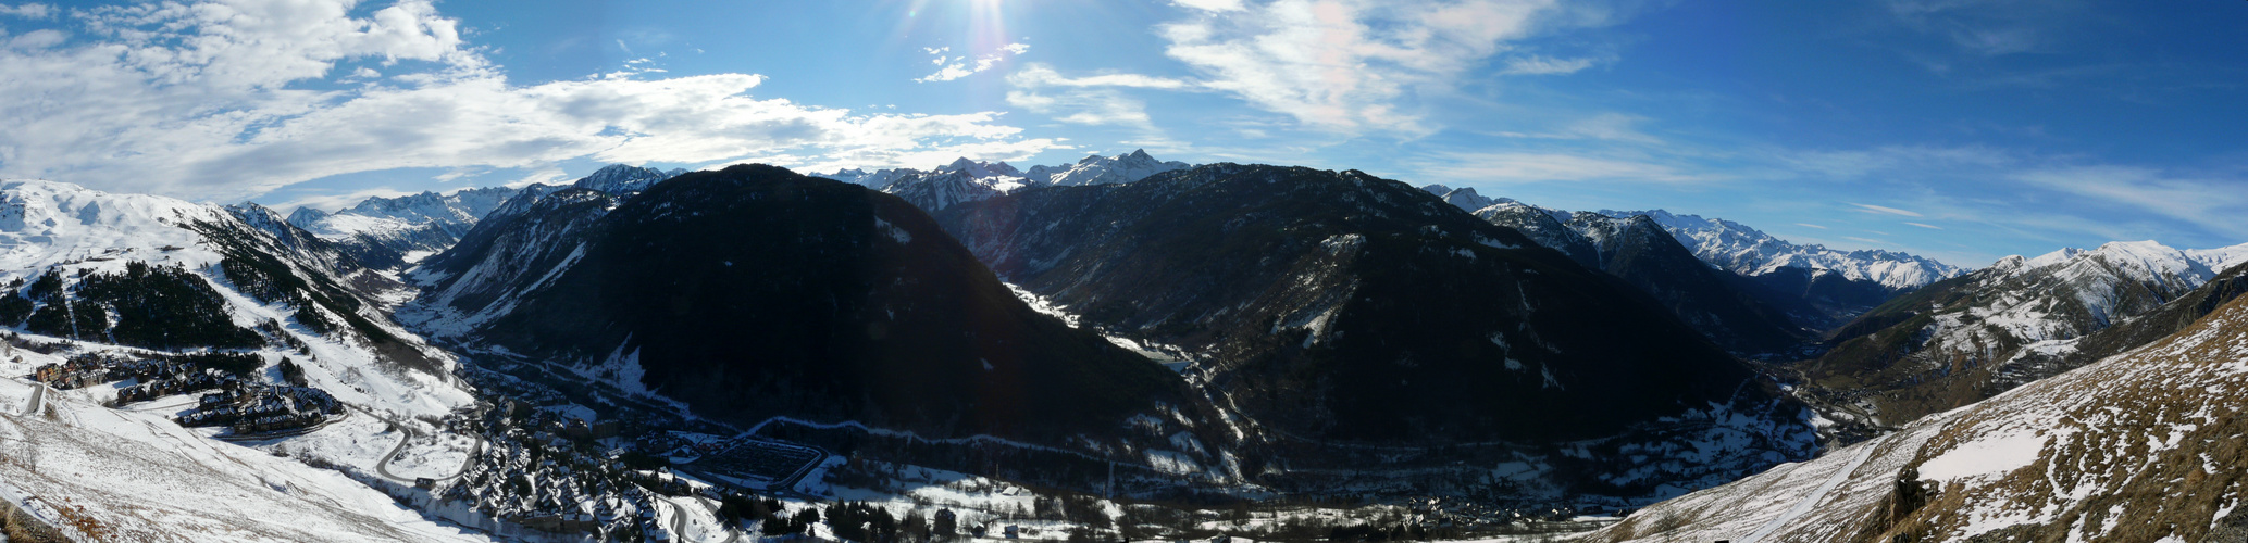
POLYGON ((1481 206, 1475 215, 1522 231, 1578 265, 1623 278, 1726 350, 1778 355, 1810 339, 1785 310, 1751 296, 1751 285, 1742 285, 1738 276, 1695 258, 1648 215, 1610 218, 1578 211, 1569 222, 1560 222, 1556 211, 1520 202, 1481 206))

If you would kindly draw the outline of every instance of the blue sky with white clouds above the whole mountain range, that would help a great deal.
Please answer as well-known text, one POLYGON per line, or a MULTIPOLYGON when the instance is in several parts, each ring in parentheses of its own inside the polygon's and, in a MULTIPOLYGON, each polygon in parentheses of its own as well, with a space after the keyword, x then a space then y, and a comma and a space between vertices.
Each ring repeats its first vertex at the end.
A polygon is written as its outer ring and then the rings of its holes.
POLYGON ((1980 267, 2248 242, 2248 2, 0 0, 0 177, 198 202, 1146 148, 1980 267))

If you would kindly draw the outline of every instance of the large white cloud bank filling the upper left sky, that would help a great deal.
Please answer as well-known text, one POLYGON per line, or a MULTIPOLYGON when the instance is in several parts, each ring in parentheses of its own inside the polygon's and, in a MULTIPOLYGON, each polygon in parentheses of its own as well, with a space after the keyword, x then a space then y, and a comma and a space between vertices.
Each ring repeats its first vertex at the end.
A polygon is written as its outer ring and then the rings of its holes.
MULTIPOLYGON (((854 166, 1025 157, 1000 112, 852 112, 751 96, 755 74, 508 83, 425 0, 130 4, 70 11, 63 47, 0 49, 0 173, 243 200, 389 168, 562 159, 854 166), (382 65, 373 72, 362 65, 382 65), (353 79, 346 90, 299 85, 353 79)), ((29 36, 29 34, 25 34, 29 36)))

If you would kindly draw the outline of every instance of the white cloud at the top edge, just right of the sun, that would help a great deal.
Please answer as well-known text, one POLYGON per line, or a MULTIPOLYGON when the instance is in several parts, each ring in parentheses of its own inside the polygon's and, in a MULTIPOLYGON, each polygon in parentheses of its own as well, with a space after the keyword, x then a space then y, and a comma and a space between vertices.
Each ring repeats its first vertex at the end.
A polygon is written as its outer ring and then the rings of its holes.
MULTIPOLYGON (((1203 74, 1205 88, 1338 132, 1427 132, 1412 96, 1452 88, 1542 25, 1601 20, 1556 0, 1187 4, 1203 11, 1158 27, 1164 54, 1203 74)), ((1558 67, 1567 65, 1547 70, 1558 67)))

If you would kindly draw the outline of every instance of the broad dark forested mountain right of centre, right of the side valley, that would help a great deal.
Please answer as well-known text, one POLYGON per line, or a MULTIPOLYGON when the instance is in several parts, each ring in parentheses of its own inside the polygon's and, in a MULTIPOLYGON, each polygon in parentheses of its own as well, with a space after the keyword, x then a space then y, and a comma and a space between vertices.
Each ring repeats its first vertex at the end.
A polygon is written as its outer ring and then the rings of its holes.
POLYGON ((1212 164, 937 220, 1088 325, 1191 357, 1288 462, 1277 489, 1650 496, 1812 449, 1798 404, 1632 285, 1358 171, 1212 164))

